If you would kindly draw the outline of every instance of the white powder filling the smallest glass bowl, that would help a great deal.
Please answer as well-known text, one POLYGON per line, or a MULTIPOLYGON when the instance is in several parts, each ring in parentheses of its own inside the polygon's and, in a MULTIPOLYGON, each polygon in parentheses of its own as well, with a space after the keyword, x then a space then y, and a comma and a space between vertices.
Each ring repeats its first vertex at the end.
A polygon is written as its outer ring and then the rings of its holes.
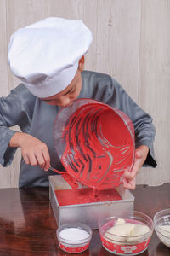
POLYGON ((78 228, 68 228, 65 230, 61 230, 59 232, 59 236, 65 240, 80 241, 83 239, 87 239, 89 237, 89 234, 85 230, 81 230, 78 228))

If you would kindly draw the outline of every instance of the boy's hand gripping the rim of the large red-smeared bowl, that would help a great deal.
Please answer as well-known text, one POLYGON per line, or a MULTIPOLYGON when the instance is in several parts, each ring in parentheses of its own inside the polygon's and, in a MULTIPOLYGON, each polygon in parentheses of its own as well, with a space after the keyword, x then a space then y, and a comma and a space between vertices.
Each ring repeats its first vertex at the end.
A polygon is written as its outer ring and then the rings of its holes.
POLYGON ((133 169, 131 172, 125 170, 123 177, 123 187, 125 189, 135 189, 136 187, 136 176, 139 172, 141 166, 143 166, 144 161, 148 155, 149 148, 147 146, 140 146, 135 150, 135 160, 133 169))

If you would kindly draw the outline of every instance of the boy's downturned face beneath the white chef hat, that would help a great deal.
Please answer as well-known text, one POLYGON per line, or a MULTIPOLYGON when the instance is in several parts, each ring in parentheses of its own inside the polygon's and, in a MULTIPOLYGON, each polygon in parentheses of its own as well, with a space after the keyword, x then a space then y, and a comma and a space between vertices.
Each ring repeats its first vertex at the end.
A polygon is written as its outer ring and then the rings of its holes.
POLYGON ((79 96, 80 91, 82 89, 82 70, 84 67, 84 58, 82 57, 79 61, 79 66, 77 69, 77 73, 72 79, 71 84, 69 84, 65 90, 60 91, 54 96, 50 96, 47 98, 42 98, 43 102, 48 103, 49 105, 56 105, 59 107, 65 107, 69 103, 73 102, 77 96, 79 96), (82 62, 81 62, 82 60, 82 62))

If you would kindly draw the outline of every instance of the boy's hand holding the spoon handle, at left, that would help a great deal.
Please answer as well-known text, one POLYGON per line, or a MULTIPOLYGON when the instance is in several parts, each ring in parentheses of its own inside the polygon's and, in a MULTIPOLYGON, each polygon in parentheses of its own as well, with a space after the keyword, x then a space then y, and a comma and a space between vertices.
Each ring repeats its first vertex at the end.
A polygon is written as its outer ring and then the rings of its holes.
POLYGON ((36 137, 27 133, 16 132, 9 143, 10 147, 20 147, 26 165, 39 165, 45 171, 50 167, 48 147, 36 137))

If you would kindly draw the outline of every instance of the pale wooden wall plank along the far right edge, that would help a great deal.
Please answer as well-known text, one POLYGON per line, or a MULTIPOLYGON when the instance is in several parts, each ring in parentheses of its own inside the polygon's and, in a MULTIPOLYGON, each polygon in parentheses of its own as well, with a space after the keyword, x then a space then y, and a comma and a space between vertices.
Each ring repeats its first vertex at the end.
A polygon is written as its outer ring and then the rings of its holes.
POLYGON ((143 1, 139 55, 139 104, 156 125, 156 170, 139 173, 138 182, 170 182, 170 1, 143 1))

